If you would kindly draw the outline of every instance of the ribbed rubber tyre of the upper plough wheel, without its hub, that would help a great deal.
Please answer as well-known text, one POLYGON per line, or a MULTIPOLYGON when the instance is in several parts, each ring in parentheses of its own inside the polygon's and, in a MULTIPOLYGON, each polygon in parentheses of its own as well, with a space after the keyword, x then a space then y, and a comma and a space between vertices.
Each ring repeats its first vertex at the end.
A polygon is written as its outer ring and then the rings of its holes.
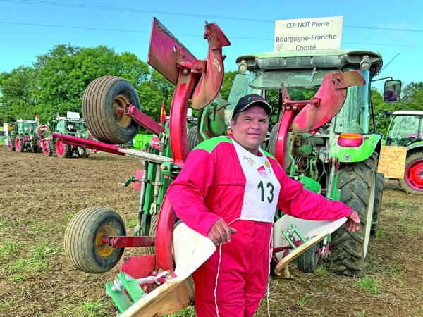
MULTIPOLYGON (((84 114, 85 124, 90 133, 99 141, 109 144, 124 144, 135 137, 138 130, 138 124, 131 121, 127 128, 121 128, 116 121, 107 116, 107 102, 110 102, 111 96, 109 90, 113 85, 129 85, 124 87, 122 92, 128 94, 130 103, 140 109, 140 99, 137 92, 126 80, 117 76, 99 77, 88 85, 85 89, 82 99, 82 113, 84 114), (125 83, 123 83, 125 82, 125 83), (109 99, 109 100, 108 100, 109 99)), ((112 107, 113 108, 113 107, 112 107)))

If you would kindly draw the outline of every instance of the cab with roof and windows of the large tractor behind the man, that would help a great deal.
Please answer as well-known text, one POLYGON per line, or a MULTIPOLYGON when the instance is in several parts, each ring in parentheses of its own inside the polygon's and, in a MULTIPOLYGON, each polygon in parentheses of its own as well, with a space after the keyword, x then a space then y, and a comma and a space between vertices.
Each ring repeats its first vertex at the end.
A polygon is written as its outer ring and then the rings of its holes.
POLYGON ((240 56, 237 63, 240 73, 235 76, 231 87, 228 101, 232 105, 226 107, 226 121, 231 118, 239 97, 258 93, 273 104, 274 116, 277 118, 272 118, 271 123, 276 123, 282 111, 282 100, 278 94, 282 83, 290 99, 306 100, 314 97, 326 73, 358 70, 364 77, 365 84, 348 87, 341 110, 330 123, 319 129, 319 132, 324 132, 322 137, 329 137, 331 133, 369 133, 372 111, 370 82, 382 67, 379 53, 341 49, 278 51, 240 56))

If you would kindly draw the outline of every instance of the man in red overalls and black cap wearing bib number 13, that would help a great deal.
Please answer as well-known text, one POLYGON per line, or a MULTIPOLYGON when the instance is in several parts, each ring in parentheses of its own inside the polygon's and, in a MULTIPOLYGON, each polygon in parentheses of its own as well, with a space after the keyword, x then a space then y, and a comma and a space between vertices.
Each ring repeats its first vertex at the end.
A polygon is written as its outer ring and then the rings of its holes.
POLYGON ((309 220, 346 216, 348 230, 360 228, 353 209, 307 191, 259 148, 270 113, 259 95, 242 97, 233 111, 232 137, 199 144, 168 189, 178 217, 217 246, 192 274, 198 317, 254 314, 266 292, 276 207, 309 220))

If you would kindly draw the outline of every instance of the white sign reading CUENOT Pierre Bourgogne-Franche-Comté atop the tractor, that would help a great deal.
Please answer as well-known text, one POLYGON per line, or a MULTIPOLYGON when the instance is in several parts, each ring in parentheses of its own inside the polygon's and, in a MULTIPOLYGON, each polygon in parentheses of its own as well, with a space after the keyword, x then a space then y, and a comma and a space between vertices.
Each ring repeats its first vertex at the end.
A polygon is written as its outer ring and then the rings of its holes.
POLYGON ((278 20, 274 51, 340 49, 342 16, 278 20))

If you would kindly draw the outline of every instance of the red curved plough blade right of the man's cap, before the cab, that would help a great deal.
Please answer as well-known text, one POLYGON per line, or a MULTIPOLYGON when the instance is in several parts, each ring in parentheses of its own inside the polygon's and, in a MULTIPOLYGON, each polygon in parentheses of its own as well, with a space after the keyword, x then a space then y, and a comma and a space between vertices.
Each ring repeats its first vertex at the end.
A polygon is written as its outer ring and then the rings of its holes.
POLYGON ((329 122, 341 110, 347 97, 347 88, 365 83, 358 70, 327 73, 311 104, 307 104, 295 116, 290 132, 308 132, 329 122))

